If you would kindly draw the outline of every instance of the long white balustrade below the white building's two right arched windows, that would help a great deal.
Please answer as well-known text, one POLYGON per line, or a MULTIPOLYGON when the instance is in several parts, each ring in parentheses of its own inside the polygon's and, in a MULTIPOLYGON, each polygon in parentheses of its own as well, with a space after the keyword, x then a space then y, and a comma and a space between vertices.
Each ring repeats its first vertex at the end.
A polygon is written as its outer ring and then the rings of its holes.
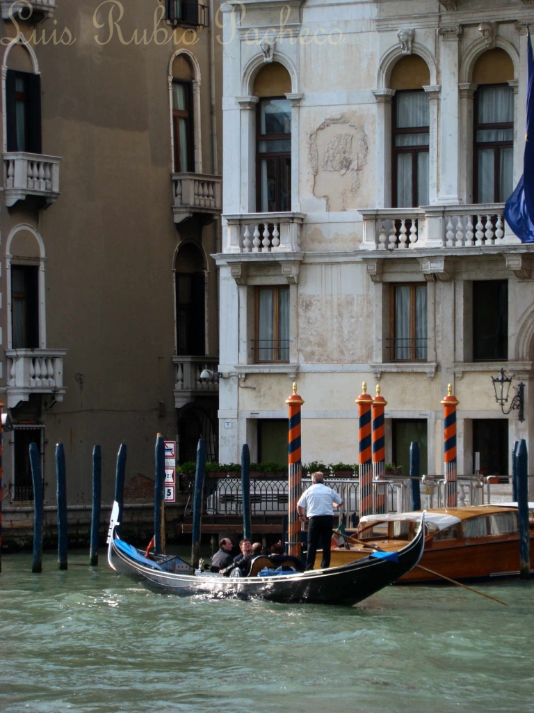
POLYGON ((504 222, 503 203, 360 210, 360 250, 491 247, 520 242, 504 222))

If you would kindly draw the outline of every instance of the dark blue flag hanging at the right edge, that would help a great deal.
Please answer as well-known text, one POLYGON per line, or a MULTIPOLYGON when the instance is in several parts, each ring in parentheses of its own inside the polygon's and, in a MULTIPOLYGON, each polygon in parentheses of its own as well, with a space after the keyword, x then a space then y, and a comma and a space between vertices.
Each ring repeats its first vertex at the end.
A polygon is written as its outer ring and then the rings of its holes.
POLYGON ((506 201, 504 217, 521 242, 534 242, 534 56, 528 31, 527 125, 523 175, 506 201))

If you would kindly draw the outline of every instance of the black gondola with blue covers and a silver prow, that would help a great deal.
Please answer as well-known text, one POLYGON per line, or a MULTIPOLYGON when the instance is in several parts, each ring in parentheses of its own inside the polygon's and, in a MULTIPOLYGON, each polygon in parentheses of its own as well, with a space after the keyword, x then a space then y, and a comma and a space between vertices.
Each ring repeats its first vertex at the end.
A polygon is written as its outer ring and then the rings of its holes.
POLYGON ((394 583, 417 565, 424 549, 424 513, 413 540, 392 556, 371 553, 340 567, 303 572, 300 560, 263 555, 251 560, 248 572, 229 576, 194 570, 170 555, 145 556, 116 532, 119 507, 114 503, 108 532, 108 563, 118 573, 160 593, 204 598, 261 599, 353 605, 394 583), (300 571, 299 571, 300 570, 300 571))

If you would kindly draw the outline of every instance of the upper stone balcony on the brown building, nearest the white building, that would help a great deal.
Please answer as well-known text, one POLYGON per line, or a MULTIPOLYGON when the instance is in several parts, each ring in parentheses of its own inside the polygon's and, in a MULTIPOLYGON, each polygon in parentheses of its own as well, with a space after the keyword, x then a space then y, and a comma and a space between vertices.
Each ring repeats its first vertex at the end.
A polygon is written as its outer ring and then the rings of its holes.
POLYGON ((195 213, 211 222, 222 211, 222 179, 202 173, 172 173, 172 212, 174 222, 195 213))

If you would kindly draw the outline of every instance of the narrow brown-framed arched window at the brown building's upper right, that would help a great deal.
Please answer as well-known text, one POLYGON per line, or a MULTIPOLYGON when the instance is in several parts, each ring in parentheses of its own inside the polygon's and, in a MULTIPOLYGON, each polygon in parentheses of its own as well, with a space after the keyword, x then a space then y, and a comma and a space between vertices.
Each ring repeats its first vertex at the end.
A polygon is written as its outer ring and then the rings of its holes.
POLYGON ((189 59, 179 54, 172 63, 172 141, 174 173, 192 173, 194 166, 194 73, 189 59))

